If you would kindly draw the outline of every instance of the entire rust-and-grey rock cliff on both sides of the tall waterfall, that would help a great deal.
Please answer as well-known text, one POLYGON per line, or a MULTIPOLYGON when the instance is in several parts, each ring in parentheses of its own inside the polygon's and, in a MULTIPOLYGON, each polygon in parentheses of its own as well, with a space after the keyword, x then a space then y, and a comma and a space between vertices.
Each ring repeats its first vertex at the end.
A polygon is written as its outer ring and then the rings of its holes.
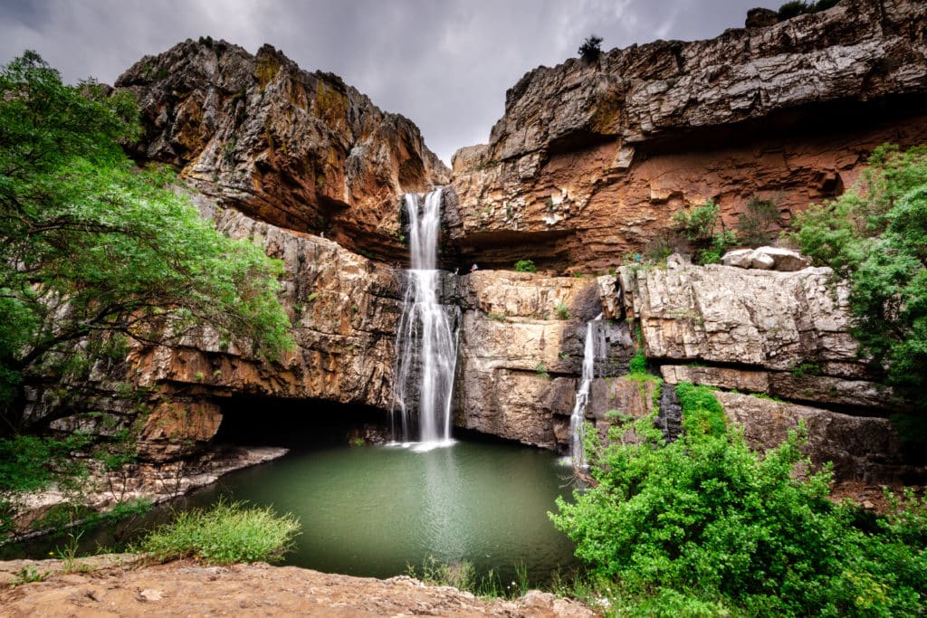
MULTIPOLYGON (((723 395, 758 446, 806 419, 811 444, 841 474, 895 474, 904 447, 891 423, 869 417, 904 402, 857 358, 846 290, 829 272, 616 267, 658 242, 679 208, 715 199, 730 228, 760 195, 787 221, 843 191, 875 145, 927 141, 924 16, 918 3, 844 0, 710 41, 527 73, 489 145, 457 153, 445 194, 445 263, 481 267, 443 280, 445 302, 463 309, 456 423, 564 449, 585 323, 604 310, 607 358, 586 412, 600 430, 610 410, 641 416, 660 398, 652 382, 621 377, 635 351, 631 320, 668 385, 781 398, 723 395), (526 258, 547 272, 493 270, 526 258)), ((117 86, 142 104, 134 156, 179 168, 219 229, 284 261, 298 346, 271 363, 206 329, 180 346, 135 348, 98 369, 92 409, 135 427, 149 460, 202 447, 233 397, 304 401, 306 414, 340 402, 386 418, 407 252, 400 195, 448 181, 414 125, 269 46, 251 56, 187 41, 143 58, 117 86), (120 393, 126 377, 130 396, 120 393)), ((35 394, 30 413, 54 405, 53 393, 35 394)), ((88 414, 55 426, 107 424, 88 414)))

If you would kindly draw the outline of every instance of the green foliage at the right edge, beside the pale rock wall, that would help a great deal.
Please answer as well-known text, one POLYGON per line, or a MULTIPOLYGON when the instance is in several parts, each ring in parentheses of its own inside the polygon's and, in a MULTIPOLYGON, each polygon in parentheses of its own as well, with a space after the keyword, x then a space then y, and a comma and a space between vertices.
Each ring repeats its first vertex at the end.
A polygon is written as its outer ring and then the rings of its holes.
POLYGON ((872 153, 860 183, 794 218, 791 238, 849 279, 853 334, 886 382, 927 408, 927 146, 872 153))

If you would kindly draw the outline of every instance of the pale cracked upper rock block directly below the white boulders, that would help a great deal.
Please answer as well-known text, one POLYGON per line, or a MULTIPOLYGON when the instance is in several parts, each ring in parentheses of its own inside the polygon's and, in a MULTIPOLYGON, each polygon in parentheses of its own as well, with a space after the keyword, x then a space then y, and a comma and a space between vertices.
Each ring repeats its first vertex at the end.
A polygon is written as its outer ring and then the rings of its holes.
POLYGON ((670 384, 682 381, 832 406, 897 410, 850 334, 832 271, 730 266, 620 271, 624 309, 670 384))

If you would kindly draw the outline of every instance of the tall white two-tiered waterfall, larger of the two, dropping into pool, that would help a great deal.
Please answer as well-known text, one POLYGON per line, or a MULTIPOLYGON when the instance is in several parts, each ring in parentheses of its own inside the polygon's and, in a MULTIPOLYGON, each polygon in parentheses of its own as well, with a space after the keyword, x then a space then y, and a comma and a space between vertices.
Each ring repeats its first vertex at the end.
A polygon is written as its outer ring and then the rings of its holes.
POLYGON ((457 335, 449 309, 440 304, 438 233, 441 189, 403 199, 409 221, 412 268, 396 341, 393 375, 393 440, 410 443, 412 408, 417 404, 421 448, 451 444, 451 390, 457 363, 457 335))

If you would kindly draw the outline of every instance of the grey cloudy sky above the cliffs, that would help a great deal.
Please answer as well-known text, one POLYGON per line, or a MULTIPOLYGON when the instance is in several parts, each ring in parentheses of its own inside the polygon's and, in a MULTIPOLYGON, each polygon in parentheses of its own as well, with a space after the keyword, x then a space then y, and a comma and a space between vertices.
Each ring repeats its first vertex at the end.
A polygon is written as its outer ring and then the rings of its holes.
POLYGON ((139 58, 210 35, 269 43, 332 71, 413 120, 450 163, 485 143, 505 91, 529 69, 603 49, 694 40, 743 26, 781 0, 0 0, 0 63, 34 49, 67 82, 112 83, 139 58))

